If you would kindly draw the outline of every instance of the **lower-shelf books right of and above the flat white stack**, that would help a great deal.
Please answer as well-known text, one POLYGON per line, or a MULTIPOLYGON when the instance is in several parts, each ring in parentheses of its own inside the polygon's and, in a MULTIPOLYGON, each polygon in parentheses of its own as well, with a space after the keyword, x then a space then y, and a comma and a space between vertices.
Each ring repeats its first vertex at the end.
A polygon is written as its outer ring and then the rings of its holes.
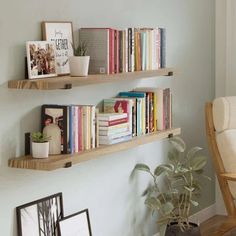
POLYGON ((136 88, 104 99, 104 113, 127 113, 132 136, 172 127, 172 95, 169 88, 136 88))

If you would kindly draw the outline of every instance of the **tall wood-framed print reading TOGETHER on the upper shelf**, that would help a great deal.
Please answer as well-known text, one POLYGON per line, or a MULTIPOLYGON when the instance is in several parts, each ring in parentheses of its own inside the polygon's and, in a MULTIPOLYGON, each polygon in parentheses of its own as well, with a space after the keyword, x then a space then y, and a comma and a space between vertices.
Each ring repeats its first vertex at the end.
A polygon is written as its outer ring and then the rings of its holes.
POLYGON ((56 72, 58 75, 69 74, 69 57, 73 56, 72 22, 42 22, 43 39, 55 42, 56 72))

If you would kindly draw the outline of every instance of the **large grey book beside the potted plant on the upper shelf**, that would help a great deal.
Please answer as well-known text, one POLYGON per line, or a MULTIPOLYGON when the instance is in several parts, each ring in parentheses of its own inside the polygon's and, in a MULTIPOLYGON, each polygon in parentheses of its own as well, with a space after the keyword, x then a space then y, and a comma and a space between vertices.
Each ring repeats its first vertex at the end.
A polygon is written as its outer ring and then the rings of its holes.
POLYGON ((81 28, 79 40, 86 42, 87 54, 90 56, 90 74, 109 74, 112 65, 112 51, 110 46, 112 30, 109 28, 81 28))

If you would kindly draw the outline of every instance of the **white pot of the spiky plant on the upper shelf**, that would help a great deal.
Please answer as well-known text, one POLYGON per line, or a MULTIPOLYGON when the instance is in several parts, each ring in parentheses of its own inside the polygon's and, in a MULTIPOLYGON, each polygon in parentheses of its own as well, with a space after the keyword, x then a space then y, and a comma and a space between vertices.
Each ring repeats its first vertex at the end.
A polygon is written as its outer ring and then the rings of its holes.
POLYGON ((87 76, 90 56, 69 57, 70 75, 87 76))

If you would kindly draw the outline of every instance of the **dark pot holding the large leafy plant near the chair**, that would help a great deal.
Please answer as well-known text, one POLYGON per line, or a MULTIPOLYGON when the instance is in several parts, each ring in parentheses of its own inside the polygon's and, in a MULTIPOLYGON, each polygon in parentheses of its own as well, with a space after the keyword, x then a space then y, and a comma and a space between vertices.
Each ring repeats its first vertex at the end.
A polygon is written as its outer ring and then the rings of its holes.
POLYGON ((201 236, 200 227, 194 223, 189 224, 190 228, 182 232, 177 223, 171 223, 166 228, 165 236, 201 236))

